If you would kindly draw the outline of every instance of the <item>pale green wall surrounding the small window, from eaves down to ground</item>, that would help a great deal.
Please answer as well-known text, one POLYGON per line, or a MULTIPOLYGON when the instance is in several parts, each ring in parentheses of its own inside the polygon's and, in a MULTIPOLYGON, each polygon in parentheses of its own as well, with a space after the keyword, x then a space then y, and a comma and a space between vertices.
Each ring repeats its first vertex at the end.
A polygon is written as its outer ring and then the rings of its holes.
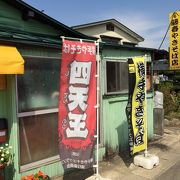
MULTIPOLYGON (((128 101, 128 92, 125 94, 105 94, 106 70, 105 62, 109 60, 127 60, 131 57, 145 56, 148 62, 151 61, 151 52, 143 49, 128 49, 116 46, 105 47, 102 51, 101 68, 101 92, 104 95, 102 99, 102 119, 104 145, 109 149, 107 151, 120 152, 128 148, 128 124, 125 108, 128 101)), ((128 82, 127 82, 128 83, 128 82)), ((153 137, 153 95, 148 92, 147 95, 147 124, 148 138, 153 137)))

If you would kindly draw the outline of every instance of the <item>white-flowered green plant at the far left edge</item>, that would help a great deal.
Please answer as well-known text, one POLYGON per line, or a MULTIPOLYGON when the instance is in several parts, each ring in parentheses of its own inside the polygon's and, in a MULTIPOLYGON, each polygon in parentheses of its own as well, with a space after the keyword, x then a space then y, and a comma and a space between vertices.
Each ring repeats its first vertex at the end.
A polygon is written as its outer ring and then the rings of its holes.
POLYGON ((12 146, 5 144, 0 147, 0 169, 5 168, 12 163, 12 146))

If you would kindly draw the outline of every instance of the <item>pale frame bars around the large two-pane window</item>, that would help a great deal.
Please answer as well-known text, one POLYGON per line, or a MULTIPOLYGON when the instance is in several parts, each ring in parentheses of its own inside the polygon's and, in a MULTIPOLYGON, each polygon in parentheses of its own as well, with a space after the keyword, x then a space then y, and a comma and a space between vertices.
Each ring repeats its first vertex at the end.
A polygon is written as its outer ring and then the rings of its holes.
MULTIPOLYGON (((36 61, 38 60, 56 60, 61 63, 61 57, 45 57, 45 56, 23 56, 23 58, 36 61)), ((28 117, 28 116, 37 116, 37 115, 43 115, 43 114, 53 114, 53 113, 58 113, 59 109, 57 108, 48 108, 48 109, 41 109, 41 110, 34 110, 34 111, 26 111, 26 112, 19 112, 19 99, 18 99, 18 77, 15 75, 15 88, 16 88, 16 117, 17 117, 17 137, 20 139, 20 134, 19 134, 19 120, 21 117, 28 117)), ((19 164, 19 171, 20 172, 25 172, 27 170, 31 170, 34 168, 41 167, 43 165, 48 165, 51 163, 55 163, 59 161, 59 155, 51 156, 42 160, 38 160, 36 162, 31 162, 27 163, 25 165, 20 164, 20 141, 18 141, 18 164, 19 164)))

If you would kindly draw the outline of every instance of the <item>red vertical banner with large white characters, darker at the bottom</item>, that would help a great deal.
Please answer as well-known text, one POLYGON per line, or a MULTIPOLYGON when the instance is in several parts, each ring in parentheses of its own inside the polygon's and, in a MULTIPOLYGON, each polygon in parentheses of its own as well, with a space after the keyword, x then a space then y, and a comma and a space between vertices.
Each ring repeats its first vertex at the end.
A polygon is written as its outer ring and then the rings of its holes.
POLYGON ((58 115, 63 167, 92 167, 96 134, 96 45, 64 40, 58 115))

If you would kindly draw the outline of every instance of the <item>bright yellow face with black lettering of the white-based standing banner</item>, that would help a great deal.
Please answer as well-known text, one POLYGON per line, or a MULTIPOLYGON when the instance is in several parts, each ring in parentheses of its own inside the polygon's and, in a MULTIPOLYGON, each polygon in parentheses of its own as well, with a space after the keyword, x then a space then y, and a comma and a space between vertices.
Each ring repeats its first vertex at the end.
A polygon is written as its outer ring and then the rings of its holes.
POLYGON ((146 129, 146 73, 144 57, 133 58, 135 67, 135 87, 132 96, 132 127, 133 127, 133 154, 145 150, 147 145, 146 129))

